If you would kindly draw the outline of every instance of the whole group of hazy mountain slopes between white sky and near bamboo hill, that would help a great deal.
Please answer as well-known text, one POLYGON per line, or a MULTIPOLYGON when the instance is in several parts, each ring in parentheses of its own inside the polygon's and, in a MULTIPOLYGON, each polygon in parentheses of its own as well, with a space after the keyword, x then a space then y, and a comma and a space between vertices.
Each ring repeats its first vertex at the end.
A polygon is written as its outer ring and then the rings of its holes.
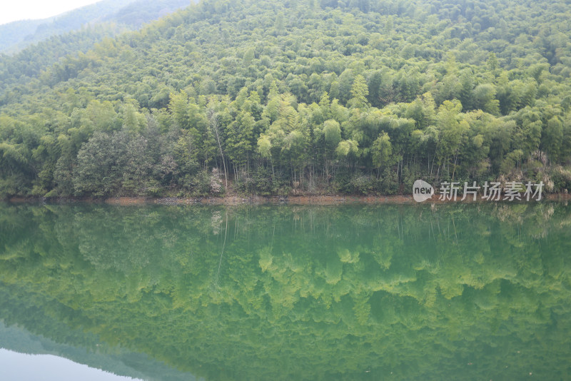
POLYGON ((50 19, 15 21, 0 26, 0 46, 9 45, 10 41, 11 51, 26 46, 13 55, 2 54, 0 49, 0 72, 6 73, 1 82, 28 83, 65 56, 86 53, 106 37, 138 29, 190 1, 119 0, 117 4, 111 3, 101 1, 50 19), (74 30, 64 31, 70 28, 74 30), (14 39, 21 36, 26 38, 14 43, 14 39), (43 41, 31 44, 39 39, 43 41))

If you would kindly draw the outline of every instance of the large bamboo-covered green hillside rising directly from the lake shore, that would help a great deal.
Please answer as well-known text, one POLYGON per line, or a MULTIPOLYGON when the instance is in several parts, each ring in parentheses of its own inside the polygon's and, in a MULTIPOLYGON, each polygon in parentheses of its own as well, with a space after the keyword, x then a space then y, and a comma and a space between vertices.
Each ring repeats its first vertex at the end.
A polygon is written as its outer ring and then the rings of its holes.
POLYGON ((569 190, 570 18, 569 1, 208 0, 25 80, 3 59, 0 194, 569 190))

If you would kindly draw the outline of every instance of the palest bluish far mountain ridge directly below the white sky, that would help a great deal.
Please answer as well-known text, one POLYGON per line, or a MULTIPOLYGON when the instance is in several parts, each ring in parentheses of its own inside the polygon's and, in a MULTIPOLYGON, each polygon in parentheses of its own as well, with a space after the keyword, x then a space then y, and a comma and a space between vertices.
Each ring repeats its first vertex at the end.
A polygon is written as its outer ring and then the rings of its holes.
POLYGON ((14 21, 0 26, 0 52, 14 54, 30 44, 86 24, 108 22, 137 29, 189 4, 188 0, 103 0, 49 19, 14 21))

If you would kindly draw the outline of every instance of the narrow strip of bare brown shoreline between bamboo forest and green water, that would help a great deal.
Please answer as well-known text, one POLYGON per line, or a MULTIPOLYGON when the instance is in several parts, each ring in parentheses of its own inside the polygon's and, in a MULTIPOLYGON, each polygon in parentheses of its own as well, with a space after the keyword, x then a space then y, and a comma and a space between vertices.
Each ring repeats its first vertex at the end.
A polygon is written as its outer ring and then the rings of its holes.
POLYGON ((571 193, 550 193, 542 195, 542 200, 439 200, 438 195, 417 203, 413 195, 225 195, 222 197, 112 197, 112 198, 23 198, 12 197, 4 202, 8 203, 103 203, 107 205, 421 205, 446 203, 541 203, 542 201, 567 202, 571 200, 571 193))

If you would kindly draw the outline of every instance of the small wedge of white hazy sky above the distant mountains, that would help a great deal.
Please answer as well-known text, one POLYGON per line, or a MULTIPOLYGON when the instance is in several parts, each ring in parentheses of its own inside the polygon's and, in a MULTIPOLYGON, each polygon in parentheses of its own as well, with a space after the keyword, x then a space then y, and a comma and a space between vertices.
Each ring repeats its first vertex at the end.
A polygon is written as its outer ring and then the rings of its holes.
MULTIPOLYGON (((24 19, 45 19, 99 0, 14 0, 2 1, 0 24, 24 19)), ((1 38, 1 36, 0 36, 1 38)))

